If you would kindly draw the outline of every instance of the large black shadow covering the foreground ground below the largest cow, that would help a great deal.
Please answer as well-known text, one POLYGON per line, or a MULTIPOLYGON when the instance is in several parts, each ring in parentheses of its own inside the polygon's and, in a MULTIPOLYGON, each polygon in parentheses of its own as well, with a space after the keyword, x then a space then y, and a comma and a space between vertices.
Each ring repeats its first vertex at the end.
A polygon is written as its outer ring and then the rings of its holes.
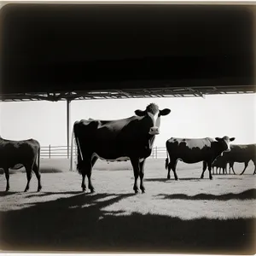
MULTIPOLYGON (((55 194, 55 193, 53 193, 55 194)), ((184 220, 108 211, 131 194, 78 194, 0 212, 2 250, 85 253, 254 253, 255 218, 184 220)), ((126 212, 127 213, 127 212, 126 212)))

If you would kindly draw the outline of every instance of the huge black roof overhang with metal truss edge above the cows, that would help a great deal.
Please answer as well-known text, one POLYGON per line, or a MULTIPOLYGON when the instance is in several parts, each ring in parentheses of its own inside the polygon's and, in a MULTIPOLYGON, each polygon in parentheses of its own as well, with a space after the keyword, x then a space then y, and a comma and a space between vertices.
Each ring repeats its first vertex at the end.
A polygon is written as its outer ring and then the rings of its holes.
POLYGON ((9 4, 2 101, 255 93, 256 9, 9 4))

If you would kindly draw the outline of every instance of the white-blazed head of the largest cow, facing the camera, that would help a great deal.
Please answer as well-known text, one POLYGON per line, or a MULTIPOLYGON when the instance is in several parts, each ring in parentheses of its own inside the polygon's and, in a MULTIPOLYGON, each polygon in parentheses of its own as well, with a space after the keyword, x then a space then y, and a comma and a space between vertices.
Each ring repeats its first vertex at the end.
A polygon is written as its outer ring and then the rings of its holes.
POLYGON ((167 115, 170 112, 171 110, 169 108, 160 110, 154 103, 149 104, 144 111, 139 109, 135 111, 137 116, 145 117, 145 119, 150 121, 150 127, 148 131, 148 134, 150 135, 160 134, 160 116, 167 115))

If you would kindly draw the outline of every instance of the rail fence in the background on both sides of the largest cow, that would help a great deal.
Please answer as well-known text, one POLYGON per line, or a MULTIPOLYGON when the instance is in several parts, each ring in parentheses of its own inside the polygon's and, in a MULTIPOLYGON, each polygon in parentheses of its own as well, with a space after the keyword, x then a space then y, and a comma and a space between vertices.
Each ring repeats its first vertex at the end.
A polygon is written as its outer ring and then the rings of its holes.
MULTIPOLYGON (((77 148, 75 147, 73 154, 77 154, 77 148)), ((44 146, 41 147, 41 158, 68 158, 71 155, 71 147, 69 147, 69 154, 67 154, 67 146, 44 146)), ((166 158, 165 147, 154 147, 149 158, 166 158)))

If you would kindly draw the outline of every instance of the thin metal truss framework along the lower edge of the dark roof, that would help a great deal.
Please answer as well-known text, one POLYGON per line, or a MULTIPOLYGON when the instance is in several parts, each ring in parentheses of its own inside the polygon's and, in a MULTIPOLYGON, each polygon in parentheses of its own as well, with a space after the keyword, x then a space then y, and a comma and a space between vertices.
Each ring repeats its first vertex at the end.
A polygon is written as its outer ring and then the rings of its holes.
POLYGON ((157 87, 131 90, 81 90, 55 93, 19 93, 0 95, 2 102, 100 100, 154 97, 204 97, 256 93, 256 86, 157 87))

